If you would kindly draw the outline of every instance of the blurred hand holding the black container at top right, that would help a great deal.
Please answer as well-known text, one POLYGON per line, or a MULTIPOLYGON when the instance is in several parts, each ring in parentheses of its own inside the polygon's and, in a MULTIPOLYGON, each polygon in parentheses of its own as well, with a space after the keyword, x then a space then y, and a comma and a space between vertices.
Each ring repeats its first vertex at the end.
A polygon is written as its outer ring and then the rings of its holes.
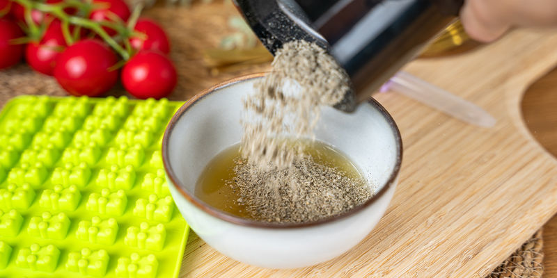
POLYGON ((466 0, 460 19, 471 38, 492 42, 511 27, 557 25, 557 1, 466 0))

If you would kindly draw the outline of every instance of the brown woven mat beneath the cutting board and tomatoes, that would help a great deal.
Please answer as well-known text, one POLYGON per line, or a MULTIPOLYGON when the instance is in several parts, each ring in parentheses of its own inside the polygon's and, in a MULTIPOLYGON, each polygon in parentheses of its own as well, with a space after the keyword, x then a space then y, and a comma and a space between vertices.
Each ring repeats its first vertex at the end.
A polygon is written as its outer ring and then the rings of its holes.
MULTIPOLYGON (((221 36, 232 31, 227 21, 237 12, 231 6, 219 3, 195 5, 192 8, 155 7, 146 15, 159 21, 172 43, 171 58, 178 70, 178 85, 168 99, 185 100, 197 92, 235 76, 267 70, 268 65, 255 65, 240 72, 214 75, 205 69, 201 60, 203 50, 217 47, 221 36)), ((0 108, 17 95, 67 95, 48 76, 37 74, 26 65, 17 65, 0 71, 0 108)), ((121 85, 116 85, 106 95, 128 95, 121 85)), ((130 95, 128 95, 130 96, 130 95)), ((542 231, 538 231, 494 272, 486 278, 540 278, 542 277, 542 231)))

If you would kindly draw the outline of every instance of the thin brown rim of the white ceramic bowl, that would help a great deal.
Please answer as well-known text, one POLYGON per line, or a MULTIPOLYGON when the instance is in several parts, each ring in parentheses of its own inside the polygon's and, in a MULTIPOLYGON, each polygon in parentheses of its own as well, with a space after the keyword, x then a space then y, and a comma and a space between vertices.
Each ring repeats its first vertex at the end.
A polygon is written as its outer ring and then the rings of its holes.
POLYGON ((395 161, 395 166, 393 167, 393 170, 391 171, 391 175, 389 176, 389 179, 386 181, 386 183, 384 183, 384 185, 379 190, 379 192, 375 193, 375 195, 373 195, 370 199, 368 199, 363 204, 359 204, 358 206, 354 206, 354 208, 350 209, 350 211, 347 211, 347 212, 345 212, 343 214, 340 214, 340 215, 333 215, 331 217, 323 218, 321 220, 317 220, 317 221, 313 221, 313 222, 301 222, 301 223, 260 222, 260 221, 256 221, 256 220, 250 220, 250 219, 247 219, 247 218, 241 218, 241 217, 233 215, 231 213, 226 213, 225 211, 221 211, 218 208, 214 208, 214 207, 210 206, 209 204, 201 201, 201 199, 198 199, 198 197, 196 197, 195 195, 188 193, 187 190, 185 189, 185 186, 183 186, 180 183, 179 179, 177 178, 177 175, 175 174, 173 168, 171 167, 171 163, 170 163, 170 159, 169 159, 170 154, 168 152, 168 142, 169 142, 168 138, 171 135, 171 133, 172 133, 174 127, 175 127, 176 122, 178 122, 178 120, 180 120, 182 115, 184 115, 189 110, 189 108, 194 106, 198 101, 203 99, 205 96, 210 95, 213 92, 217 92, 217 91, 219 91, 223 88, 226 88, 230 85, 234 85, 235 83, 260 78, 262 76, 265 76, 265 74, 266 74, 266 72, 260 72, 260 73, 256 73, 256 74, 247 74, 247 75, 244 75, 244 76, 237 76, 233 79, 229 79, 228 81, 223 81, 221 83, 217 83, 217 85, 213 85, 212 87, 201 91, 200 93, 198 93, 194 97, 191 97, 191 99, 186 101, 186 103, 183 104, 180 107, 180 109, 178 109, 178 111, 176 111, 176 113, 174 113, 170 122, 168 122, 168 125, 166 126, 166 129, 164 131, 164 136, 163 136, 163 139, 162 139, 162 163, 164 165, 164 170, 165 170, 165 172, 168 176, 168 179, 170 179, 172 181, 172 185, 169 184, 168 186, 174 186, 178 190, 178 192, 183 197, 185 197, 187 202, 190 202, 191 204, 194 204, 194 206, 201 209, 202 211, 205 211, 205 213, 208 213, 209 215, 212 215, 216 218, 219 218, 220 220, 224 220, 224 221, 230 222, 232 224, 239 224, 239 225, 244 226, 244 227, 276 229, 276 228, 312 227, 312 226, 316 226, 316 225, 319 225, 319 224, 325 224, 325 223, 329 223, 329 222, 342 220, 344 218, 348 218, 348 217, 350 217, 350 215, 354 215, 355 213, 358 213, 359 211, 363 210, 363 208, 367 208, 371 204, 375 203, 375 201, 377 201, 377 199, 379 199, 379 197, 384 195, 384 193, 386 193, 386 191, 389 190, 389 188, 391 188, 391 186, 394 185, 395 180, 398 177, 398 172, 400 172, 400 165, 402 164, 402 138, 400 136, 400 131, 398 129, 398 126, 395 124, 395 121, 393 120, 393 117, 391 117, 391 114, 389 114, 389 112, 387 112, 386 109, 381 104, 379 104, 379 102, 377 102, 375 99, 370 97, 369 100, 367 101, 368 104, 370 104, 371 106, 374 106, 374 108, 376 108, 377 111, 379 111, 379 113, 382 114, 382 116, 385 118, 385 120, 387 121, 387 123, 391 127, 391 131, 393 132, 393 135, 395 136, 395 141, 396 141, 395 144, 396 144, 396 148, 397 148, 396 161, 395 161))

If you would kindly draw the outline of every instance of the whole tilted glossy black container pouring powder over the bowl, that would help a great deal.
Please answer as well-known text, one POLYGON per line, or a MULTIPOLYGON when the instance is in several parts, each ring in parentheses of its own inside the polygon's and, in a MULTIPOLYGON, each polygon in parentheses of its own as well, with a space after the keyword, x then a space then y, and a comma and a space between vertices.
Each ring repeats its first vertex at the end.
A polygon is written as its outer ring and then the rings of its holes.
POLYGON ((354 110, 458 14, 463 0, 235 0, 273 54, 285 42, 325 47, 352 79, 354 110))

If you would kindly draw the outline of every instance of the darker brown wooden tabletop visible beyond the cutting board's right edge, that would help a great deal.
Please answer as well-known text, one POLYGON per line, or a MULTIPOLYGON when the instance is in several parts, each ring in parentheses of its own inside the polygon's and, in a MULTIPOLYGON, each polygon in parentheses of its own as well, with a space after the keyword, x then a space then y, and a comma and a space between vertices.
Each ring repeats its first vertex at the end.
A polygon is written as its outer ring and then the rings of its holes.
MULTIPOLYGON (((557 68, 535 81, 522 99, 526 126, 557 157, 557 68)), ((544 225, 544 278, 557 277, 557 216, 544 225)))

